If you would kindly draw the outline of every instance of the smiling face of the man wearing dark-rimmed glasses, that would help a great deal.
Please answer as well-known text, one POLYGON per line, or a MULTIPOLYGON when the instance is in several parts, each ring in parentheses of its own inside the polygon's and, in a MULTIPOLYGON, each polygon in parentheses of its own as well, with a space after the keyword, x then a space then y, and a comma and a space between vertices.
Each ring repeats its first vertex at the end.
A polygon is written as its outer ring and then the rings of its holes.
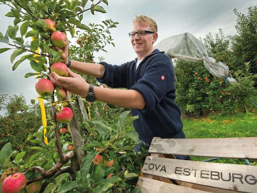
MULTIPOLYGON (((132 31, 148 30, 151 31, 150 27, 144 23, 135 22, 132 31)), ((136 33, 133 37, 130 37, 131 44, 134 51, 137 54, 137 59, 142 59, 146 55, 152 52, 153 42, 157 39, 157 33, 138 36, 136 33)))

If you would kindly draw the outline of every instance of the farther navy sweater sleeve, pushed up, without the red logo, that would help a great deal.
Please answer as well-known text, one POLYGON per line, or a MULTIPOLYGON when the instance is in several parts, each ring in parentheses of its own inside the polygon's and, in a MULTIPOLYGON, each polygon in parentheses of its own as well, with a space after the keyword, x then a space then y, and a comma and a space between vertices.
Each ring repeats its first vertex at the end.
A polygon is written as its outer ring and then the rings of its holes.
POLYGON ((101 78, 96 78, 98 82, 105 83, 112 88, 126 87, 127 63, 121 65, 112 65, 106 62, 100 62, 104 65, 105 71, 101 78))

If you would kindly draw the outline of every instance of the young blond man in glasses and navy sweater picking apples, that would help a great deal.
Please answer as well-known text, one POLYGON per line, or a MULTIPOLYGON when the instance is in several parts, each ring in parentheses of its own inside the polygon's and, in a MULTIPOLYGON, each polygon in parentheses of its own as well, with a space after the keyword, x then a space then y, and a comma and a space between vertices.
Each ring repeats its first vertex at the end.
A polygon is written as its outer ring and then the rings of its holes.
MULTIPOLYGON (((158 37, 155 21, 144 15, 136 16, 132 32, 128 34, 136 58, 121 65, 70 61, 67 58, 68 46, 64 47, 62 54, 62 59, 71 69, 95 76, 99 82, 110 87, 125 87, 126 90, 97 86, 92 88, 79 74, 71 71, 71 77, 61 77, 51 72, 51 81, 70 92, 86 96, 89 101, 95 97, 102 102, 131 108, 131 115, 139 115, 133 125, 147 148, 153 136, 184 138, 180 109, 174 102, 174 71, 171 61, 164 52, 153 50, 153 43, 158 37)), ((135 150, 139 150, 139 146, 135 150)))

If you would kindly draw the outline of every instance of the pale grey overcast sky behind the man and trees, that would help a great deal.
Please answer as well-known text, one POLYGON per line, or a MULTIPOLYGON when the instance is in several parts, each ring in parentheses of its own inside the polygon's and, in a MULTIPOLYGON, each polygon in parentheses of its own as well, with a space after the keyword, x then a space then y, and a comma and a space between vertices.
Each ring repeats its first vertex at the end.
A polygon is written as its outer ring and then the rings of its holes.
MULTIPOLYGON (((115 47, 107 46, 108 53, 100 52, 95 56, 103 56, 105 61, 121 64, 135 57, 128 32, 132 28, 135 15, 144 14, 153 18, 158 25, 158 43, 160 40, 175 34, 190 32, 194 36, 204 37, 208 32, 215 34, 222 28, 225 35, 235 34, 236 16, 233 9, 247 13, 247 7, 256 5, 256 0, 108 0, 103 4, 107 13, 83 13, 82 22, 99 23, 101 20, 118 21, 117 28, 110 30, 115 47)), ((7 26, 13 25, 13 18, 4 16, 9 11, 6 5, 0 5, 0 32, 5 34, 7 26)), ((71 43, 75 39, 70 39, 71 43)), ((155 43, 155 44, 156 44, 155 43)), ((0 48, 6 47, 0 43, 0 48)), ((10 55, 13 50, 1 53, 0 93, 9 95, 23 93, 27 101, 37 97, 34 89, 34 77, 24 78, 24 74, 32 72, 29 61, 22 62, 15 71, 11 70, 10 55)), ((97 62, 97 59, 95 59, 97 62)))

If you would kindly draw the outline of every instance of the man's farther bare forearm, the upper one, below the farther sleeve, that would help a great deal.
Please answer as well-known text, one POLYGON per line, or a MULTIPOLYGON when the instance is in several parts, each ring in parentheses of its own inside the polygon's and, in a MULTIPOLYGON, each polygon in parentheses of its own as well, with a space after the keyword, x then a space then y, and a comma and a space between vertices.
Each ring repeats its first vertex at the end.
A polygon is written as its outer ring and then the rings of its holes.
POLYGON ((101 78, 104 74, 105 67, 99 63, 87 63, 76 60, 71 60, 70 69, 77 72, 101 78))

